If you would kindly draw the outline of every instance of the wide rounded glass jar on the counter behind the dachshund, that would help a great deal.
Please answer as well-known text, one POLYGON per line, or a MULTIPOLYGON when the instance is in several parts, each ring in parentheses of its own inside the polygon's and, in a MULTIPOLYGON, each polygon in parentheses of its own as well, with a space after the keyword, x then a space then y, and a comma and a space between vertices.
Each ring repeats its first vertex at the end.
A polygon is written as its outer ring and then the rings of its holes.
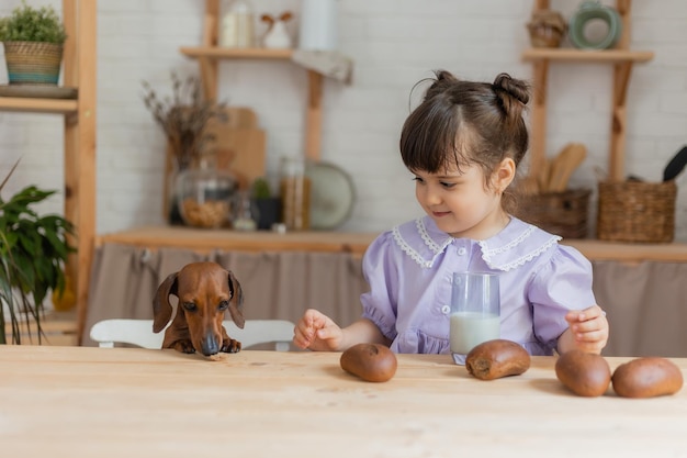
POLYGON ((217 228, 229 223, 230 202, 238 182, 227 171, 192 168, 177 177, 179 213, 188 226, 217 228))

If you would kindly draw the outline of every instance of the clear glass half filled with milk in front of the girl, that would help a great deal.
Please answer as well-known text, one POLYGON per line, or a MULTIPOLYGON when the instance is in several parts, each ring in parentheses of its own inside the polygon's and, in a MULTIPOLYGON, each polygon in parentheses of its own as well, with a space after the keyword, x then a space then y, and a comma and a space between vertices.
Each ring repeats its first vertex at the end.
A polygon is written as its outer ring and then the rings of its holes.
POLYGON ((465 355, 473 347, 499 337, 498 273, 453 273, 449 339, 454 361, 465 364, 465 355))

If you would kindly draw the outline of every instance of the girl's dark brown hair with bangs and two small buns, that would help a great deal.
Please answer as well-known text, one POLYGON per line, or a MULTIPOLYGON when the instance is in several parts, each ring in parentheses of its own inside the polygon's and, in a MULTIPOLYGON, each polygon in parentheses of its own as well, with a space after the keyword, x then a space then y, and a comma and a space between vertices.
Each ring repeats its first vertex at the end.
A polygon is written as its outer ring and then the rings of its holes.
POLYGON ((425 99, 403 125, 403 163, 412 171, 429 174, 476 164, 488 187, 503 159, 511 157, 517 167, 527 152, 522 113, 529 86, 508 74, 498 75, 493 83, 462 81, 446 70, 435 75, 425 99))

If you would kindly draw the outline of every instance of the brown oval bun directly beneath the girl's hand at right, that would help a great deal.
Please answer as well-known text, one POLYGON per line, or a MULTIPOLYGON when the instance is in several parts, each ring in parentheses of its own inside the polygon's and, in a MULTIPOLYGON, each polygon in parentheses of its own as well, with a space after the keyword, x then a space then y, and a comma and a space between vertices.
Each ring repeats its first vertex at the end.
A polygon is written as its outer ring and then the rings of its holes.
POLYGON ((610 366, 601 356, 573 349, 555 361, 555 376, 573 393, 596 398, 610 386, 610 366))

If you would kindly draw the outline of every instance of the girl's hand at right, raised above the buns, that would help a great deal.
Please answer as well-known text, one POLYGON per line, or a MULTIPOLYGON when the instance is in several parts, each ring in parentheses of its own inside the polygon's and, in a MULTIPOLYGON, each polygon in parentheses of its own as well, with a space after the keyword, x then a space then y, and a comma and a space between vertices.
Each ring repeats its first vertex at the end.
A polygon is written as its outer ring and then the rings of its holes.
MULTIPOLYGON (((568 343, 577 349, 600 354, 608 342, 608 320, 606 312, 598 305, 585 310, 567 312, 565 321, 570 325, 568 343)), ((572 348, 567 348, 572 349, 572 348)))

